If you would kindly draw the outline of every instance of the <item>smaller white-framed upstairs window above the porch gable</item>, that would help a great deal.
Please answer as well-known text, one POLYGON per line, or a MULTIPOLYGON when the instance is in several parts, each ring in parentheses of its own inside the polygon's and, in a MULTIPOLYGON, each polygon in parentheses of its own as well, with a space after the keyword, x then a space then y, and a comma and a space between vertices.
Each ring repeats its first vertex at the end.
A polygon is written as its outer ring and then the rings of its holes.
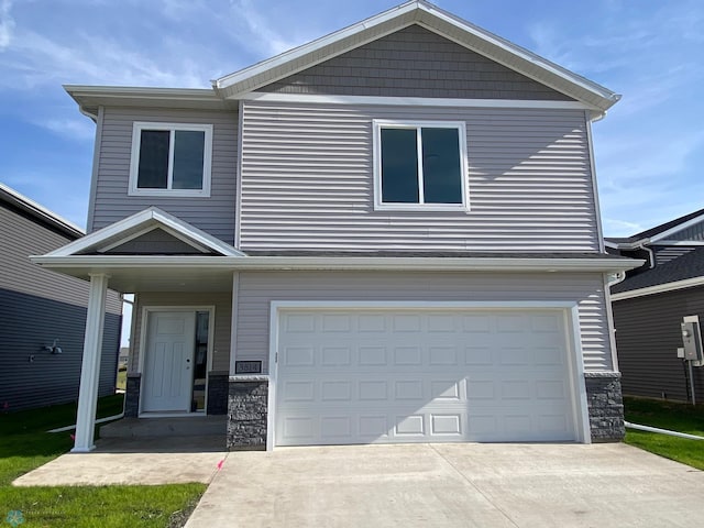
POLYGON ((210 196, 212 125, 135 122, 130 195, 210 196))

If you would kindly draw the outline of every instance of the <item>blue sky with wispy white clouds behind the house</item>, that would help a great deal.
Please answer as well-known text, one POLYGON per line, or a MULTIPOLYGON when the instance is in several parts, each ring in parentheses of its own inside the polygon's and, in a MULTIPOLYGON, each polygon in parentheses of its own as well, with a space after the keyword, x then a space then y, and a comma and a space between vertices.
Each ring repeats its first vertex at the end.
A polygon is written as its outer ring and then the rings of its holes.
MULTIPOLYGON (((85 227, 94 123, 62 84, 202 87, 400 0, 0 0, 0 180, 85 227)), ((438 0, 623 94, 594 124, 607 235, 704 208, 704 2, 438 0)))

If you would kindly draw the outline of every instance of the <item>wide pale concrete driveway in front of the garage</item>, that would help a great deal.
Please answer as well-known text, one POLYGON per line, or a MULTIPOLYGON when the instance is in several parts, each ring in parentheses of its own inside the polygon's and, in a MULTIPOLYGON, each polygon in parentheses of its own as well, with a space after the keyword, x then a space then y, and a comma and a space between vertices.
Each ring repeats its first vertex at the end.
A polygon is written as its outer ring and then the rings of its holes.
POLYGON ((278 448, 230 453, 186 527, 692 527, 703 491, 625 444, 278 448))

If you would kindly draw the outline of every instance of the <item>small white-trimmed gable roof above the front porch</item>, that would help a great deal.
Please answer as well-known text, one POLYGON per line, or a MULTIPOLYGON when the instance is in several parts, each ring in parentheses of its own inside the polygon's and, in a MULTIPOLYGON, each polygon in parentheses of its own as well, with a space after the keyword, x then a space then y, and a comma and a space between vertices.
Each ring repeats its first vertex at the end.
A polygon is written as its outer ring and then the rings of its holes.
POLYGON ((47 253, 45 256, 70 256, 86 253, 105 253, 134 240, 153 229, 163 229, 204 254, 217 253, 223 256, 243 256, 244 253, 221 240, 184 222, 183 220, 150 207, 119 222, 95 231, 81 239, 47 253))

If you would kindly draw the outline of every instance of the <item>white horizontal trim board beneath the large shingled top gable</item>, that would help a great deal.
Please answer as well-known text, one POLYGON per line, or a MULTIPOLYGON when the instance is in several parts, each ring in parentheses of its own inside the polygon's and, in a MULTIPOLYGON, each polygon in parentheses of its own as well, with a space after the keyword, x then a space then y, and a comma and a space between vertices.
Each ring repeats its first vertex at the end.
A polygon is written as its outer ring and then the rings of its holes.
POLYGON ((397 107, 457 108, 540 108, 559 110, 597 110, 581 101, 549 101, 532 99, 451 99, 433 97, 327 96, 307 94, 275 94, 252 91, 240 98, 245 101, 294 102, 319 105, 383 105, 397 107))

